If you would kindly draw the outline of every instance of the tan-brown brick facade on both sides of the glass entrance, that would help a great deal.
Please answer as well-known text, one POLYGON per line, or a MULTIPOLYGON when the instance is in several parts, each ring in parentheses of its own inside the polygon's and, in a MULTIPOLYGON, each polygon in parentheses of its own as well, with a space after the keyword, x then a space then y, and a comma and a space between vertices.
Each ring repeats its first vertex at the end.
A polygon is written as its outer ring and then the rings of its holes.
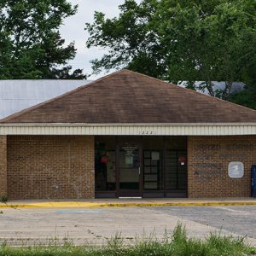
MULTIPOLYGON (((94 137, 0 136, 0 195, 10 199, 93 198, 94 137)), ((188 196, 250 196, 256 136, 188 137, 188 196), (244 177, 230 178, 241 161, 244 177)))

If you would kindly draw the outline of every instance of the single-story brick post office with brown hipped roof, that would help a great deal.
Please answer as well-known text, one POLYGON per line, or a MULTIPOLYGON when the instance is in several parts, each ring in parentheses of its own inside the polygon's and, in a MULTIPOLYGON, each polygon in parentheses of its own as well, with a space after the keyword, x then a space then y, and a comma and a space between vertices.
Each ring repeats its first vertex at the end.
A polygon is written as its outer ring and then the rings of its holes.
POLYGON ((0 120, 10 199, 245 197, 256 111, 128 70, 0 120))

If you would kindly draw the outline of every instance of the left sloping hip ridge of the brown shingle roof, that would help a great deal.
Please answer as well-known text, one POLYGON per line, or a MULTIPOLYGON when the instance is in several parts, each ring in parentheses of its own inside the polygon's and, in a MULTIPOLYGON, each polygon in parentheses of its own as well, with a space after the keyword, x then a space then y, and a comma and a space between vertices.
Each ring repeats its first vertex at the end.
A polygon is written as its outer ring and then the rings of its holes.
POLYGON ((96 79, 95 81, 93 81, 93 82, 91 82, 89 84, 81 85, 81 86, 79 86, 78 88, 76 88, 74 90, 70 90, 70 91, 67 91, 67 92, 61 94, 60 96, 55 96, 54 98, 51 98, 48 101, 38 103, 37 105, 34 105, 34 106, 30 107, 30 108, 26 108, 26 109, 23 109, 23 110, 21 110, 21 111, 19 111, 17 113, 13 113, 13 114, 11 114, 11 115, 3 118, 3 119, 0 119, 0 123, 11 121, 12 119, 14 119, 16 117, 20 117, 20 116, 22 116, 22 115, 24 115, 26 113, 29 113, 30 111, 32 111, 32 110, 34 110, 36 108, 42 107, 42 106, 44 106, 44 105, 46 105, 46 104, 48 104, 50 102, 55 102, 56 100, 59 100, 59 99, 61 99, 64 96, 73 95, 73 93, 75 93, 75 92, 77 92, 79 90, 83 90, 83 89, 87 88, 88 86, 90 86, 91 84, 96 84, 97 82, 101 82, 102 80, 109 79, 109 77, 112 77, 116 73, 121 73, 122 71, 123 70, 119 70, 119 71, 116 71, 114 73, 108 74, 107 76, 104 76, 104 77, 102 77, 100 79, 96 79))

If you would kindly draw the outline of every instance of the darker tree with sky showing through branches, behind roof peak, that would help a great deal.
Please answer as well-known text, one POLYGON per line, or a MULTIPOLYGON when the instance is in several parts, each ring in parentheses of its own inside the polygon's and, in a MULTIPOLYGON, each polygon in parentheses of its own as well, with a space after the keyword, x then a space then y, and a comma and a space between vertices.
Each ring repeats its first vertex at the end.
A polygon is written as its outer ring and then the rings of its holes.
POLYGON ((110 70, 128 67, 140 73, 159 77, 165 73, 162 61, 161 45, 153 26, 153 14, 158 1, 138 5, 133 0, 126 0, 120 5, 119 18, 105 19, 100 12, 95 13, 95 22, 86 24, 90 33, 87 47, 100 46, 108 49, 108 54, 101 60, 93 60, 94 73, 102 68, 110 70))

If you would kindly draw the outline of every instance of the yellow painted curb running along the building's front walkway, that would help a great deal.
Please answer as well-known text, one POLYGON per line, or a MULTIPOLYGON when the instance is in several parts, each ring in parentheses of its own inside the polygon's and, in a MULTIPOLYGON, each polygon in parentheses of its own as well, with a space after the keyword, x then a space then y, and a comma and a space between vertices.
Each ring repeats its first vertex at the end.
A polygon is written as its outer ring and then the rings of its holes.
POLYGON ((31 204, 4 204, 0 208, 26 208, 26 207, 213 207, 213 206, 255 206, 256 201, 220 201, 220 202, 163 202, 163 203, 94 203, 94 202, 80 202, 80 201, 67 201, 67 202, 42 202, 31 204))

